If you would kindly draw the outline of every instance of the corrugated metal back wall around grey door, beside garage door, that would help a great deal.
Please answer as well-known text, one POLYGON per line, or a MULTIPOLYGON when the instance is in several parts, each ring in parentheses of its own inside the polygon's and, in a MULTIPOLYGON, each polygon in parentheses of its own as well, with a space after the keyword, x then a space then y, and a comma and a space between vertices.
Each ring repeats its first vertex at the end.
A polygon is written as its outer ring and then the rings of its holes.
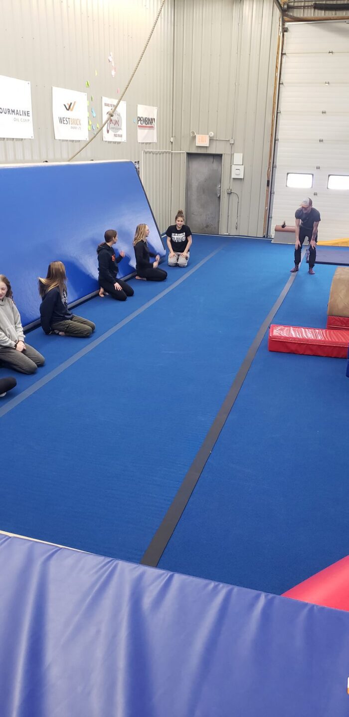
MULTIPOLYGON (((173 148, 221 153, 220 232, 261 234, 279 12, 272 0, 176 0, 174 22, 173 148), (191 131, 213 132, 210 148, 196 148, 191 131), (231 180, 233 152, 243 153, 243 180, 231 180), (239 196, 237 230, 229 188, 239 196)), ((175 171, 172 214, 183 204, 185 181, 175 171)))

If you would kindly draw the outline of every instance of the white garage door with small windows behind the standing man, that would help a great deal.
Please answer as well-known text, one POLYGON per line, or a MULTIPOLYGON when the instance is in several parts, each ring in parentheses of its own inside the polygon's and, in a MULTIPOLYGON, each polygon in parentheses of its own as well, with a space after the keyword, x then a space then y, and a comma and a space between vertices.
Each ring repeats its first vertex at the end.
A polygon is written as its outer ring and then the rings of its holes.
POLYGON ((271 234, 310 196, 319 239, 349 237, 349 22, 289 23, 284 52, 271 234))

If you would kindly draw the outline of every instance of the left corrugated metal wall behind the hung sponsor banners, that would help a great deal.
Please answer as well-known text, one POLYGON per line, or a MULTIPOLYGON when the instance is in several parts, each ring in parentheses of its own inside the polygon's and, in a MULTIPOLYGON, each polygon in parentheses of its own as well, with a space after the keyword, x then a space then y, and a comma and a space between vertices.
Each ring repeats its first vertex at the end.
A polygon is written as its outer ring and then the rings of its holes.
MULTIPOLYGON (((88 92, 101 124, 101 96, 118 98, 129 80, 159 8, 158 0, 11 0, 0 4, 0 74, 30 80, 34 140, 0 141, 2 163, 66 161, 83 142, 55 140, 52 85, 88 92), (113 52, 116 75, 108 55, 113 52), (96 75, 97 71, 97 75, 96 75), (86 80, 90 87, 86 88, 86 80)), ((141 149, 170 148, 172 128, 173 8, 167 0, 139 70, 125 97, 127 142, 94 140, 78 161, 131 159, 141 149), (158 110, 158 143, 136 138, 137 103, 158 110)), ((89 133, 90 135, 90 133, 89 133)), ((167 222, 169 181, 148 175, 148 193, 160 224, 167 222)))

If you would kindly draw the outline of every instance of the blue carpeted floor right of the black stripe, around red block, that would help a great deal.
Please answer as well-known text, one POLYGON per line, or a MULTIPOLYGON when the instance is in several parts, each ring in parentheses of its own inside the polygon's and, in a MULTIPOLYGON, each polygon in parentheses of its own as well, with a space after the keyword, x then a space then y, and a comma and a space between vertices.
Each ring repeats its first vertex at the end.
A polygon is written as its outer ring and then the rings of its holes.
MULTIPOLYGON (((302 267, 276 323, 325 326, 335 267, 302 267)), ((281 593, 349 553, 345 361, 253 361, 164 569, 281 593)))

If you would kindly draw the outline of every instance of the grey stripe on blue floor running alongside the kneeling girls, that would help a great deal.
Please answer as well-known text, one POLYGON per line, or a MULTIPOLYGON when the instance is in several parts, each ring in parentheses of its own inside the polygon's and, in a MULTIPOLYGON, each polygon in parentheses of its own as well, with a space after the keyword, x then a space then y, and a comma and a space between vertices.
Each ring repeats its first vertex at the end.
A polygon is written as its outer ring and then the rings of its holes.
POLYGON ((60 364, 60 366, 57 366, 57 369, 53 369, 53 371, 50 371, 50 374, 46 374, 46 376, 43 376, 42 379, 39 379, 39 381, 36 381, 35 384, 29 387, 29 389, 26 389, 25 391, 22 391, 19 396, 16 396, 14 399, 11 399, 11 401, 7 402, 3 408, 0 408, 0 418, 1 416, 4 416, 6 413, 9 413, 13 408, 18 406, 22 401, 25 401, 25 399, 29 398, 29 396, 32 396, 36 391, 39 391, 39 389, 42 388, 42 386, 45 386, 49 383, 49 381, 52 381, 52 379, 55 379, 56 376, 59 376, 62 374, 65 369, 68 369, 69 366, 73 366, 73 364, 76 363, 76 361, 79 361, 79 359, 82 359, 83 356, 86 356, 87 353, 90 353, 90 351, 93 351, 93 348, 96 348, 96 346, 99 346, 100 343, 103 343, 103 341, 106 341, 106 338, 109 338, 109 336, 113 336, 113 333, 116 333, 116 331, 120 331, 123 326, 126 326, 126 323, 129 323, 132 319, 136 318, 136 316, 139 316, 139 314, 143 313, 146 309, 149 309, 150 306, 157 303, 160 299, 162 299, 163 296, 166 296, 172 289, 175 289, 177 286, 182 284, 183 281, 185 281, 187 278, 189 278, 192 274, 194 274, 197 269, 200 269, 208 260, 212 259, 218 252, 220 252, 221 249, 225 247, 225 244, 221 244, 218 249, 215 249, 214 252, 211 252, 205 259, 202 259, 195 267, 192 267, 188 272, 186 272, 180 279, 175 281, 171 286, 167 287, 167 289, 164 289, 164 291, 160 292, 157 296, 154 296, 153 299, 150 301, 147 301, 146 304, 141 306, 139 309, 131 313, 129 316, 124 318, 120 323, 117 323, 116 326, 113 326, 113 328, 109 328, 106 333, 103 333, 102 336, 99 336, 98 338, 95 338, 94 341, 91 341, 91 343, 88 344, 88 346, 85 346, 81 349, 81 351, 78 351, 78 353, 75 353, 74 356, 71 356, 70 359, 67 359, 67 361, 64 361, 63 364, 60 364))

